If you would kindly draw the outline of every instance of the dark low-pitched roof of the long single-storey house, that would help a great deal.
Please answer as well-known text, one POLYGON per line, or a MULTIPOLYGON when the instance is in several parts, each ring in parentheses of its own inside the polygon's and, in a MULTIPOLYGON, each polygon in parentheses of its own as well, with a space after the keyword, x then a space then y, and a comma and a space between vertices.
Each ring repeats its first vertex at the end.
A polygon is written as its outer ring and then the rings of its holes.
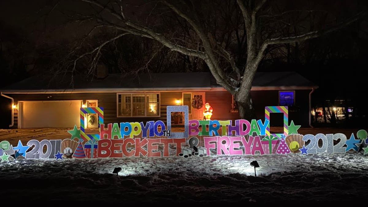
MULTIPOLYGON (((31 92, 107 92, 107 91, 176 91, 224 90, 209 72, 149 73, 138 76, 109 74, 103 79, 86 80, 68 76, 33 76, 1 89, 3 93, 31 92)), ((317 86, 296 72, 256 73, 252 90, 296 90, 317 86)))

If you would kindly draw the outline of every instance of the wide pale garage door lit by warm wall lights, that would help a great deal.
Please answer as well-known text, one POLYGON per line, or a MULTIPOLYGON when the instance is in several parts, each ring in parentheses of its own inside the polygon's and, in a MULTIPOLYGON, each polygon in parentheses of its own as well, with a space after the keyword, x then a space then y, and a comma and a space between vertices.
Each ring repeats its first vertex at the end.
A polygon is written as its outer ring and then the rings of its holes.
POLYGON ((20 107, 20 128, 80 127, 82 100, 24 101, 20 107))

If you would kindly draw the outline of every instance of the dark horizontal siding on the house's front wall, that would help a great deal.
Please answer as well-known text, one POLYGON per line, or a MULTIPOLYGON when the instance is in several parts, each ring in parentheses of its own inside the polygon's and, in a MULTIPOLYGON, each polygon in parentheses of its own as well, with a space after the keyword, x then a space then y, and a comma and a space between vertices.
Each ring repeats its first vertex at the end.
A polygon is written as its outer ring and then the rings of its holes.
MULTIPOLYGON (((117 117, 117 100, 115 92, 107 93, 73 93, 73 94, 10 94, 15 102, 18 101, 62 101, 62 100, 89 100, 97 99, 98 105, 104 108, 105 123, 120 122, 146 122, 150 120, 162 120, 166 123, 166 106, 176 105, 175 100, 182 98, 182 92, 176 91, 160 92, 160 117, 117 117), (49 97, 49 98, 48 98, 49 97)), ((196 91, 201 92, 201 91, 196 91)), ((296 124, 308 126, 309 102, 308 90, 296 90, 295 104, 300 107, 298 112, 290 112, 289 120, 294 120, 296 124)), ((265 106, 277 106, 279 104, 279 91, 252 91, 252 100, 255 107, 257 119, 264 120, 265 106)), ((213 120, 236 120, 239 119, 237 112, 230 112, 232 96, 227 91, 206 91, 205 102, 213 108, 213 120)), ((17 113, 16 113, 17 114, 17 113)), ((14 127, 17 127, 17 115, 14 127)), ((289 121, 289 123, 290 123, 289 121)), ((272 123, 276 123, 272 120, 272 123)))

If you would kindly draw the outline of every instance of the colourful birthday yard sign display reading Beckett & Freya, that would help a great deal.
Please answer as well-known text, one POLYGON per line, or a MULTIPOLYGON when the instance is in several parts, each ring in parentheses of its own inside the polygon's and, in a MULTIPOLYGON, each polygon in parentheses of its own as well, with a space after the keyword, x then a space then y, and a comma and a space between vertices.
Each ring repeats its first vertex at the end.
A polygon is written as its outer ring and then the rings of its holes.
POLYGON ((211 155, 300 155, 345 153, 364 150, 368 154, 367 131, 342 134, 298 134, 299 125, 289 123, 287 106, 267 106, 262 120, 188 120, 188 106, 167 106, 164 122, 103 123, 103 108, 81 108, 81 128, 69 130, 64 140, 18 141, 13 146, 0 142, 1 162, 15 159, 85 159, 122 157, 169 157, 170 146, 176 146, 174 156, 189 158, 211 155), (184 131, 171 131, 171 112, 184 113, 184 131), (85 133, 85 114, 97 114, 99 134, 85 133), (270 113, 283 113, 284 133, 270 133, 270 113), (320 141, 321 140, 321 141, 320 141), (335 144, 334 144, 335 141, 335 144), (322 144, 318 144, 318 143, 322 144))

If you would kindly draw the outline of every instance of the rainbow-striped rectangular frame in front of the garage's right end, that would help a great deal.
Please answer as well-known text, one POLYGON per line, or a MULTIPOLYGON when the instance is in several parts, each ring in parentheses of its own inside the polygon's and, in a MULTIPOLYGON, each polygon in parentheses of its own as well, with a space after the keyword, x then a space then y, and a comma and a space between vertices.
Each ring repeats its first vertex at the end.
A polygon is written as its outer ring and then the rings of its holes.
POLYGON ((84 126, 84 115, 86 113, 96 113, 98 114, 98 127, 100 128, 100 124, 103 124, 103 108, 102 107, 89 107, 89 108, 81 108, 81 138, 84 141, 89 141, 92 139, 99 140, 100 134, 86 134, 85 126, 84 126))

